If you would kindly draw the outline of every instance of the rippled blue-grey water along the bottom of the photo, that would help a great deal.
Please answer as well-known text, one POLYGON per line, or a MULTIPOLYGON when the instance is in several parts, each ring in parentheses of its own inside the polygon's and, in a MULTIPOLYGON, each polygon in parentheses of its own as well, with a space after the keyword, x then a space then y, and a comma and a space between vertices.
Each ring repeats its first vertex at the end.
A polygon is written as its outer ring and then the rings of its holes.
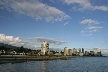
POLYGON ((0 64, 0 72, 108 72, 108 57, 0 64))

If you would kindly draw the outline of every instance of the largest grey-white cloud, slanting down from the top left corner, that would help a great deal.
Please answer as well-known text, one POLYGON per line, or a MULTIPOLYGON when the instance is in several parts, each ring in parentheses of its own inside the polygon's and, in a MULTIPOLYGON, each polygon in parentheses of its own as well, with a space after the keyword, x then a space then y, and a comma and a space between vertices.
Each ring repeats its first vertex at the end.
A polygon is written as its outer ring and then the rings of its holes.
POLYGON ((0 8, 9 12, 17 12, 36 20, 62 21, 70 18, 63 11, 39 2, 39 0, 0 0, 0 8))

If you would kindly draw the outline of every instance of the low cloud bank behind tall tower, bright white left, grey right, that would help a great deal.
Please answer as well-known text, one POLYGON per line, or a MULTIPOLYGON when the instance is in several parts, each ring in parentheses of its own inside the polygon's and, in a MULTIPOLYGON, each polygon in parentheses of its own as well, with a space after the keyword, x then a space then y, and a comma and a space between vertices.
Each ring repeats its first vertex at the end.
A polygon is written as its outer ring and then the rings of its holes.
POLYGON ((57 40, 54 38, 45 38, 45 37, 34 37, 25 40, 21 40, 20 37, 14 38, 13 36, 6 36, 4 34, 0 34, 0 43, 10 44, 13 46, 24 46, 26 48, 39 48, 41 47, 41 43, 43 41, 48 42, 50 45, 62 45, 67 43, 66 41, 57 40))

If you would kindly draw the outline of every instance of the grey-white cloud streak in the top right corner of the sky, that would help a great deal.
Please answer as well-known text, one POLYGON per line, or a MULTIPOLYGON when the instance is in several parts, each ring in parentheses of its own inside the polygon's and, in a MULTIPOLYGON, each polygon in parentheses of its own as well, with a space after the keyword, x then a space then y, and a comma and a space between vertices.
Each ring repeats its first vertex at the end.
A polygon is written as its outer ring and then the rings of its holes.
POLYGON ((71 4, 78 4, 77 6, 72 7, 75 10, 102 10, 108 11, 108 6, 94 6, 91 4, 90 0, 62 0, 64 3, 71 5, 71 4))

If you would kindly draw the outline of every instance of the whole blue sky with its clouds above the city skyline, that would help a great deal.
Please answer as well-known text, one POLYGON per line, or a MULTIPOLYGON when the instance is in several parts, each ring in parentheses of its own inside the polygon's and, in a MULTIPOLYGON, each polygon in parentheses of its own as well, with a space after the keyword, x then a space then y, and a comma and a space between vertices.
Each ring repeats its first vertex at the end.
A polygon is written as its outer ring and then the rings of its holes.
POLYGON ((107 23, 108 0, 0 0, 0 43, 107 49, 107 23))

